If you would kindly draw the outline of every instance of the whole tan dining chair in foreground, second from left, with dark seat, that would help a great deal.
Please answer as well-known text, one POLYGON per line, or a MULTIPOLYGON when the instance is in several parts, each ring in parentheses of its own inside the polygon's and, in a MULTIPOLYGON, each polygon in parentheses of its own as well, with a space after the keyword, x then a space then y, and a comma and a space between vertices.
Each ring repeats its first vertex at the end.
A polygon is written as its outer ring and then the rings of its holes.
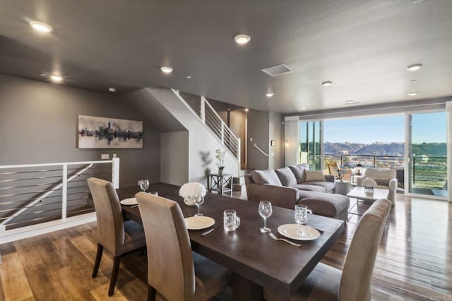
POLYGON ((230 283, 231 273, 191 252, 189 232, 175 201, 136 194, 148 248, 148 300, 208 300, 230 283))

